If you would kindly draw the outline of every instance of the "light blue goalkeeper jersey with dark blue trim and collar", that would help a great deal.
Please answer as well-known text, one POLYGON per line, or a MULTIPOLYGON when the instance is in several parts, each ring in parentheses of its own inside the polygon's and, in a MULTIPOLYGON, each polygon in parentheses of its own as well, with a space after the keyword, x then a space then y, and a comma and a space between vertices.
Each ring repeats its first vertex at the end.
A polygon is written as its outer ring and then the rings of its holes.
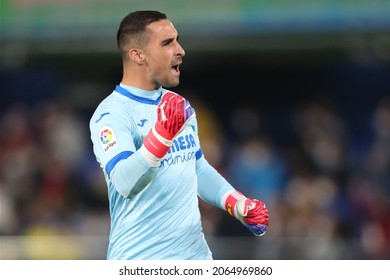
POLYGON ((196 118, 174 139, 160 166, 152 167, 139 151, 167 91, 119 85, 90 120, 108 189, 107 259, 212 259, 198 195, 223 209, 222 196, 233 187, 204 158, 196 118))

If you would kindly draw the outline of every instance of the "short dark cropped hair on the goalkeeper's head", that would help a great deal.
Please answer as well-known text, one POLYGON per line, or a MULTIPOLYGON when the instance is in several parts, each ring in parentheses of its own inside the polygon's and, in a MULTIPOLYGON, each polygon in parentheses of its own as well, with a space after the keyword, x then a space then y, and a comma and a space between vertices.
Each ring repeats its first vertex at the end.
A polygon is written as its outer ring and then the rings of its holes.
POLYGON ((155 21, 167 19, 167 15, 158 11, 135 11, 125 16, 116 35, 117 46, 122 56, 128 52, 130 42, 142 43, 142 36, 146 27, 155 21))

